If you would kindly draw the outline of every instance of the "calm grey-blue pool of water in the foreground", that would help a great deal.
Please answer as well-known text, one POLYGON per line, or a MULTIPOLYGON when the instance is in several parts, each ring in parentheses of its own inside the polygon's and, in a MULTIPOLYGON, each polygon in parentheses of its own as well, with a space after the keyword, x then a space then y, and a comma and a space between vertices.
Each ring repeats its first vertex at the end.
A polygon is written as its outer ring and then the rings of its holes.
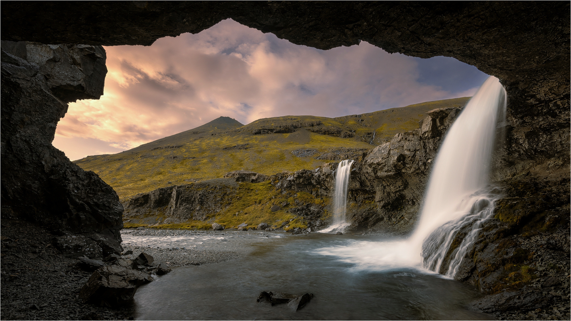
MULTIPOLYGON (((175 267, 171 273, 156 277, 155 282, 136 292, 135 319, 493 319, 491 315, 468 310, 469 303, 478 298, 478 292, 464 283, 413 267, 357 269, 347 260, 323 254, 327 253, 324 248, 355 242, 380 243, 378 238, 325 233, 224 234, 228 241, 218 242, 224 243, 224 247, 248 249, 243 251, 243 258, 175 267), (264 290, 291 294, 310 292, 315 296, 299 311, 292 311, 285 304, 270 306, 256 302, 264 290)), ((157 245, 156 242, 154 239, 153 244, 157 245)))

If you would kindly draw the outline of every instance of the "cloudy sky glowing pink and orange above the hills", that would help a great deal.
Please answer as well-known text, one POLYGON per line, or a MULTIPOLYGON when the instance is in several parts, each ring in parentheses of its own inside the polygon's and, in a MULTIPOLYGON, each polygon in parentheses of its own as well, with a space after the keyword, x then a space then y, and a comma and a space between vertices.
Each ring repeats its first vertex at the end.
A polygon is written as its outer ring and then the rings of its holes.
POLYGON ((367 42, 318 50, 224 20, 152 46, 104 47, 99 100, 69 104, 54 146, 70 160, 126 151, 220 116, 337 117, 472 96, 488 75, 454 58, 388 54, 367 42))

